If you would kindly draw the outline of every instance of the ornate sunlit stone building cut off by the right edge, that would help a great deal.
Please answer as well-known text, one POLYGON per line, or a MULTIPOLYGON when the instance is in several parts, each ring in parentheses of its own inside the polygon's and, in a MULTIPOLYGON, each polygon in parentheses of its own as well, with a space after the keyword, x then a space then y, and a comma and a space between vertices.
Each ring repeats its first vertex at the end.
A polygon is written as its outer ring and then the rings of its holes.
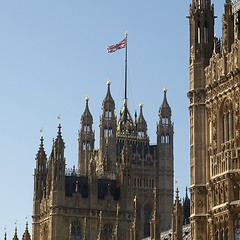
POLYGON ((190 5, 191 238, 240 239, 240 1, 190 5))

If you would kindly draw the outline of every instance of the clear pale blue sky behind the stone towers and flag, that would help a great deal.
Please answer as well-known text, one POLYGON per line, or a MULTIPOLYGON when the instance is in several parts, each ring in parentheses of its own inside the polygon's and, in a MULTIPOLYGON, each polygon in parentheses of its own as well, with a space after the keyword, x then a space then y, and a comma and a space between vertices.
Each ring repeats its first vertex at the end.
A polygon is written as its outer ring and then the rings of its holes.
MULTIPOLYGON (((216 34, 224 0, 214 1, 216 34)), ((174 121, 175 178, 181 196, 189 185, 189 1, 0 0, 0 238, 21 237, 31 223, 35 154, 43 128, 49 156, 61 114, 68 167, 77 164, 77 132, 85 96, 94 117, 111 91, 116 112, 123 102, 124 51, 106 47, 128 37, 128 98, 132 114, 143 103, 151 143, 167 87, 174 121)))

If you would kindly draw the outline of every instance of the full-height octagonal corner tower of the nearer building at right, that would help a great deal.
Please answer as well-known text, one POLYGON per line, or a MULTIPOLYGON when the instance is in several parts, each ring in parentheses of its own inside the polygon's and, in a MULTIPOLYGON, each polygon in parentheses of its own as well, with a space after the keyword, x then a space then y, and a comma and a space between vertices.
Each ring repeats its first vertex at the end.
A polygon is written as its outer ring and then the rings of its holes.
POLYGON ((207 239, 205 68, 214 46, 214 7, 211 0, 190 5, 190 192, 192 239, 207 239))

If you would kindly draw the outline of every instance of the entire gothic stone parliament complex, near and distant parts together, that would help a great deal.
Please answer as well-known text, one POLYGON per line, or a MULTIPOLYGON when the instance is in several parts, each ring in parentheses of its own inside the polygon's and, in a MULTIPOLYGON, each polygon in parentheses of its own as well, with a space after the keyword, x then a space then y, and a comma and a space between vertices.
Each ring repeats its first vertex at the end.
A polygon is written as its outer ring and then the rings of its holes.
POLYGON ((98 150, 86 99, 78 170, 65 172, 61 125, 48 159, 41 138, 34 170, 33 240, 240 239, 240 1, 225 0, 221 38, 214 35, 211 0, 192 0, 188 20, 188 238, 178 191, 173 202, 173 123, 166 90, 157 144, 150 145, 143 105, 132 118, 124 99, 117 118, 108 82, 98 150), (171 234, 161 238, 169 229, 171 234))

